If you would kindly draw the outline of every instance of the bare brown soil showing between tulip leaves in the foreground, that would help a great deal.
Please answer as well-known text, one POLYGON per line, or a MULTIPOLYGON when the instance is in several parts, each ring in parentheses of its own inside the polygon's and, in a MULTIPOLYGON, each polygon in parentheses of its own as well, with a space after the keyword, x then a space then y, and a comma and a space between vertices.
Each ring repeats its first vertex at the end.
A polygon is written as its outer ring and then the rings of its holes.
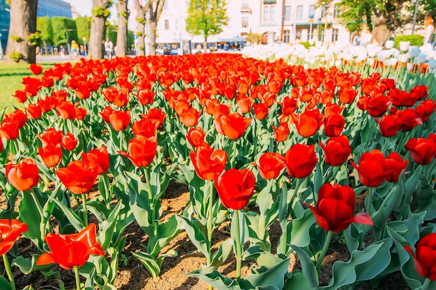
MULTIPOLYGON (((91 193, 92 195, 98 192, 91 193)), ((363 205, 363 198, 357 198, 357 207, 363 205)), ((189 201, 189 191, 187 186, 171 182, 167 189, 166 198, 162 200, 162 209, 166 218, 169 215, 178 214, 185 208, 189 201)), ((4 195, 0 195, 0 205, 4 206, 4 195)), ((270 229, 271 242, 277 245, 281 229, 278 223, 272 225, 270 229)), ((132 223, 125 231, 127 242, 123 250, 125 259, 120 259, 118 268, 118 275, 114 286, 120 290, 203 290, 208 289, 205 282, 198 280, 195 277, 186 277, 187 273, 200 268, 201 264, 205 264, 205 258, 196 250, 194 244, 189 241, 185 232, 179 234, 176 239, 164 248, 162 252, 172 249, 178 252, 177 257, 167 257, 162 265, 161 275, 155 279, 150 277, 146 268, 132 257, 132 252, 141 249, 141 243, 146 243, 146 236, 137 223, 132 223)), ((228 223, 224 223, 215 230, 212 236, 212 244, 219 244, 230 238, 228 232, 228 223)), ((32 253, 36 252, 36 246, 28 239, 20 239, 17 241, 17 248, 20 255, 29 257, 32 253)), ((274 249, 273 249, 274 252, 274 249)), ((333 239, 332 245, 327 252, 322 264, 322 274, 320 275, 320 284, 327 285, 332 276, 332 266, 334 261, 348 261, 350 253, 346 245, 339 243, 337 239, 333 239)), ((243 264, 242 277, 249 275, 249 269, 252 265, 250 262, 243 264)), ((289 270, 299 268, 298 258, 291 257, 289 270)), ((65 289, 75 289, 75 276, 72 271, 65 271, 59 266, 54 266, 54 270, 61 273, 62 281, 65 283, 65 289)), ((226 263, 218 268, 218 271, 228 277, 235 277, 235 259, 229 257, 226 263)), ((3 264, 0 265, 0 273, 6 277, 3 264)), ((13 268, 15 282, 17 289, 23 289, 26 285, 32 285, 35 290, 43 289, 59 289, 59 280, 45 280, 45 277, 39 272, 33 272, 30 275, 24 275, 18 268, 13 268)), ((361 284, 357 290, 371 290, 371 284, 365 282, 361 284)), ((400 273, 395 273, 389 277, 384 278, 377 288, 380 290, 390 289, 409 289, 405 284, 403 277, 400 273)))

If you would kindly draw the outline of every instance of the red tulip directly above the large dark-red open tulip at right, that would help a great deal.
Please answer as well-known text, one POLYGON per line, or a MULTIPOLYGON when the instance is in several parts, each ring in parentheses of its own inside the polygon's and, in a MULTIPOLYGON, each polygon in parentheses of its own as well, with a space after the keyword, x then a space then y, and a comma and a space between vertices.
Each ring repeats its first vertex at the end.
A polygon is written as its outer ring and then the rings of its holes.
POLYGON ((352 150, 350 148, 350 141, 346 136, 339 135, 331 137, 327 143, 320 143, 322 150, 325 154, 325 163, 330 166, 341 166, 348 160, 352 150))

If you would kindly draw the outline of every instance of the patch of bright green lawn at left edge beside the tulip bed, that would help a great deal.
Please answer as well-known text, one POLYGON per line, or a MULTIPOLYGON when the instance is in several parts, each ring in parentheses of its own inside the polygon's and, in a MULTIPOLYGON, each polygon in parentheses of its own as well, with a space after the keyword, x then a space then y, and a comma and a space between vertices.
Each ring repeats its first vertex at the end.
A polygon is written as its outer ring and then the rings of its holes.
MULTIPOLYGON (((52 67, 53 64, 41 64, 44 69, 52 67)), ((22 79, 26 76, 33 76, 29 70, 29 64, 0 63, 0 111, 6 108, 6 112, 13 111, 13 106, 20 106, 12 95, 15 90, 22 90, 22 79)))

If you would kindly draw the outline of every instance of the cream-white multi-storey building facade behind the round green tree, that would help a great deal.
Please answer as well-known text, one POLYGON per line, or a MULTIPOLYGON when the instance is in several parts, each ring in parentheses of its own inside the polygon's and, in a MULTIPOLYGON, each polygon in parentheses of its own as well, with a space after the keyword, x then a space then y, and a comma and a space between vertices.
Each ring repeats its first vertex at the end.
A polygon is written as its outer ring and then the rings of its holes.
MULTIPOLYGON (((306 42, 311 39, 322 42, 349 42, 350 33, 338 22, 338 3, 317 6, 317 0, 228 0, 227 25, 208 42, 238 42, 247 35, 262 36, 262 43, 306 42)), ((203 42, 201 35, 186 32, 185 19, 189 0, 166 0, 157 24, 157 43, 179 42, 189 39, 203 42)), ((134 14, 134 11, 132 11, 134 14)), ((133 17, 136 19, 136 17, 133 17)), ((130 29, 135 30, 134 22, 130 29)), ((148 33, 146 33, 148 34, 148 33)))

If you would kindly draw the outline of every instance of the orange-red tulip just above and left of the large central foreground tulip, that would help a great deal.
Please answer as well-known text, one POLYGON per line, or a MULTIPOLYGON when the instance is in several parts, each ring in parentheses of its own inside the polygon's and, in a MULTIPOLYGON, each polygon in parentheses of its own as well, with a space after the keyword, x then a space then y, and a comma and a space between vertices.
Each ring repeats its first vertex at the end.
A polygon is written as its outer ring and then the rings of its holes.
POLYGON ((201 179, 213 180, 215 175, 221 174, 226 168, 227 153, 220 149, 213 150, 209 145, 196 147, 189 156, 201 179))

